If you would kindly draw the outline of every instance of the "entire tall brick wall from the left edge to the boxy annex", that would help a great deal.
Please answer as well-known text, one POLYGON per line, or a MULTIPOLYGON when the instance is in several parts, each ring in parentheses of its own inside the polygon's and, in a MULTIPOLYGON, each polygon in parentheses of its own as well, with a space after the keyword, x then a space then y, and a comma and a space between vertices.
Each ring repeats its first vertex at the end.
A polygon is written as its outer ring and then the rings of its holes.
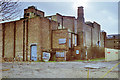
POLYGON ((18 57, 21 57, 21 59, 23 59, 24 41, 24 60, 27 60, 27 57, 28 60, 30 60, 30 46, 33 44, 37 45, 37 56, 40 56, 42 51, 49 51, 52 48, 52 29, 57 29, 58 26, 57 22, 40 17, 35 17, 28 20, 23 19, 4 24, 4 57, 13 59, 15 50, 15 58, 17 59, 18 57), (16 26, 15 29, 14 26, 16 26))

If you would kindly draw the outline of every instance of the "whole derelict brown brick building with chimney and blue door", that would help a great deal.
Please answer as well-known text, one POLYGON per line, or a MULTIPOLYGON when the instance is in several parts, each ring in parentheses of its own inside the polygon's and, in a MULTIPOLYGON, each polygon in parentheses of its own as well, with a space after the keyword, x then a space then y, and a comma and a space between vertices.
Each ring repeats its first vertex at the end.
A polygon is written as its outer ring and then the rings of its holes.
POLYGON ((2 35, 2 57, 23 61, 41 60, 43 53, 50 53, 56 60, 73 55, 85 58, 89 47, 105 45, 100 25, 84 21, 83 7, 78 7, 77 19, 58 13, 45 17, 43 11, 28 7, 23 19, 2 23, 2 35), (85 53, 80 52, 81 47, 86 48, 85 53))

